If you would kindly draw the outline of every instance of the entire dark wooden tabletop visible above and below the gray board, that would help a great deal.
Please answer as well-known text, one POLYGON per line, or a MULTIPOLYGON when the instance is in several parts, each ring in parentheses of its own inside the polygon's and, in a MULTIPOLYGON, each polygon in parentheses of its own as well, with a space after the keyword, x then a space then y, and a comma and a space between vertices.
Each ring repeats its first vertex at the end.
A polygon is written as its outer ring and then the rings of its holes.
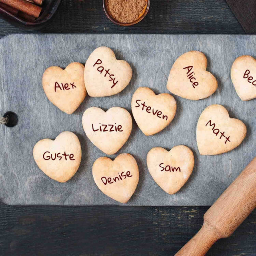
MULTIPOLYGON (((127 28, 104 16, 101 0, 62 0, 52 22, 35 32, 244 34, 224 0, 151 0, 146 18, 127 28)), ((26 31, 0 20, 0 36, 10 33, 26 31)), ((206 210, 0 204, 0 255, 170 256, 200 229, 206 210)), ((256 211, 207 255, 256 256, 256 211)))

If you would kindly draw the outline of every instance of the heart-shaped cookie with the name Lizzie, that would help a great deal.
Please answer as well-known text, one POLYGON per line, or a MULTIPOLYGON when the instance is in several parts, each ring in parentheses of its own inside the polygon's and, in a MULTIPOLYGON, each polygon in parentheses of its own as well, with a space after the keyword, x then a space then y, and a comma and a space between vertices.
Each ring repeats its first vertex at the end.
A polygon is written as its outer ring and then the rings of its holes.
POLYGON ((105 154, 115 154, 128 140, 132 131, 130 113, 119 107, 104 111, 101 108, 88 108, 82 124, 89 140, 105 154))

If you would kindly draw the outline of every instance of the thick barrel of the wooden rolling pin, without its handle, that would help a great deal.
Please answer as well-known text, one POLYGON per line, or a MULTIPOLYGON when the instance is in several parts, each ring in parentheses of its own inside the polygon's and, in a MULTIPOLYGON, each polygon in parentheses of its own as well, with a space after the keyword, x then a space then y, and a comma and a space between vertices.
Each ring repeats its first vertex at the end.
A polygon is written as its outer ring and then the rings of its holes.
POLYGON ((230 236, 256 207, 256 158, 223 192, 204 215, 206 226, 218 230, 221 238, 230 236))

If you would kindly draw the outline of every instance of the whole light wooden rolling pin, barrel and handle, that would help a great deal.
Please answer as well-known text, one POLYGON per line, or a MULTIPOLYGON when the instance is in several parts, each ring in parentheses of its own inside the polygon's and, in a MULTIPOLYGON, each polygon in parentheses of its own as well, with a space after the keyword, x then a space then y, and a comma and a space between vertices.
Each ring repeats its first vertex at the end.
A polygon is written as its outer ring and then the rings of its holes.
POLYGON ((256 207, 256 157, 204 214, 198 233, 175 256, 204 256, 220 238, 231 236, 256 207))

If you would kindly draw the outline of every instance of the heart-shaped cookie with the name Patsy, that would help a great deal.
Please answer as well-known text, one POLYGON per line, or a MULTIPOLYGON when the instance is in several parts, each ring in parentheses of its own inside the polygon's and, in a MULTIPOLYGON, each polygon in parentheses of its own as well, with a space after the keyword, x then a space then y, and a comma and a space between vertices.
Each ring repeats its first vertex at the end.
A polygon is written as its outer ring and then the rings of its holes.
POLYGON ((117 60, 114 52, 105 46, 92 52, 84 67, 84 83, 91 97, 117 94, 132 79, 132 68, 125 60, 117 60))

